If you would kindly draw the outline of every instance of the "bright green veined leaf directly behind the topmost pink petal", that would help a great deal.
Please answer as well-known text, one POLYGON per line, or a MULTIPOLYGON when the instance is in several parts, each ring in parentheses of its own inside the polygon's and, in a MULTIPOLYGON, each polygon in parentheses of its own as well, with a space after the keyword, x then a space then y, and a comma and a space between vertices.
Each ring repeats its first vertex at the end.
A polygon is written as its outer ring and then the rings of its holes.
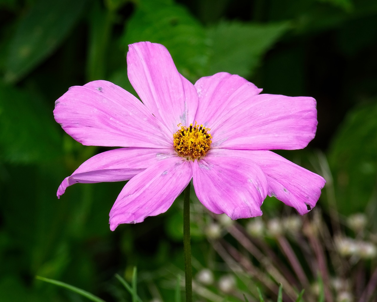
POLYGON ((127 23, 124 45, 161 43, 184 77, 193 82, 207 74, 209 48, 201 24, 183 6, 142 3, 127 23))

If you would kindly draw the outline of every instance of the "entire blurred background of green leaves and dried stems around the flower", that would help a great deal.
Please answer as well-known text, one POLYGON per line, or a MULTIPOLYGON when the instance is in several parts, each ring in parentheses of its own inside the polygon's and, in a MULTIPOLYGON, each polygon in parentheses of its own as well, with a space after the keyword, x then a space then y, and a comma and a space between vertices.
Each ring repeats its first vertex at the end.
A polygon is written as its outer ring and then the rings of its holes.
POLYGON ((106 150, 54 121, 68 87, 106 79, 132 93, 129 43, 164 44, 190 81, 239 74, 265 93, 317 99, 316 138, 279 151, 326 178, 304 217, 274 198, 262 218, 212 216, 192 195, 198 301, 377 299, 377 2, 374 0, 0 0, 0 300, 85 301, 35 280, 61 280, 106 301, 176 301, 183 276, 182 200, 110 232, 124 183, 60 182, 106 150), (245 296, 244 296, 245 295, 245 296))

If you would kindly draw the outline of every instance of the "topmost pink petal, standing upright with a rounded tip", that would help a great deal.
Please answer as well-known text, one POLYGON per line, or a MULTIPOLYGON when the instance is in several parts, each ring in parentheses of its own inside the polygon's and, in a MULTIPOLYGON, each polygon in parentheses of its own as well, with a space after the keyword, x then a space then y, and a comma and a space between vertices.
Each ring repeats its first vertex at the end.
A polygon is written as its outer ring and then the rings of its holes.
POLYGON ((165 123, 171 135, 193 122, 198 107, 195 87, 178 73, 169 51, 161 44, 129 45, 129 80, 144 105, 165 123))

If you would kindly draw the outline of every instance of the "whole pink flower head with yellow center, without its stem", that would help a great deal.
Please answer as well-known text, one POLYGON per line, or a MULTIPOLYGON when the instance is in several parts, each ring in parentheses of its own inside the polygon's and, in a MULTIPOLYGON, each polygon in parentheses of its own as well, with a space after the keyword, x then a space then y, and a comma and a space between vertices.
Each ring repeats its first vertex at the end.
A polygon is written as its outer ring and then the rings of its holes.
POLYGON ((301 215, 316 205, 325 180, 269 151, 307 146, 315 99, 259 94, 228 73, 193 85, 167 49, 150 42, 129 45, 127 65, 143 103, 107 81, 71 87, 55 102, 55 120, 75 140, 123 147, 81 164, 58 197, 75 183, 129 180, 110 211, 112 231, 167 211, 191 179, 207 209, 232 219, 262 215, 267 195, 301 215))

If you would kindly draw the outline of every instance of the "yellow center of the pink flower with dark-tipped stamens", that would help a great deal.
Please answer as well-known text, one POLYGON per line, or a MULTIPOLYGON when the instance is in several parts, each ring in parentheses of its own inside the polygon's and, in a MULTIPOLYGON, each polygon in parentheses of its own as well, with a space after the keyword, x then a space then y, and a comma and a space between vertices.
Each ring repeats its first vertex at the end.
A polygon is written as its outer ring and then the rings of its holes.
POLYGON ((190 127, 181 126, 181 129, 173 135, 174 148, 178 155, 188 160, 200 159, 201 156, 206 155, 211 149, 212 143, 209 130, 211 129, 205 128, 203 125, 199 127, 196 122, 194 126, 192 124, 190 127))

